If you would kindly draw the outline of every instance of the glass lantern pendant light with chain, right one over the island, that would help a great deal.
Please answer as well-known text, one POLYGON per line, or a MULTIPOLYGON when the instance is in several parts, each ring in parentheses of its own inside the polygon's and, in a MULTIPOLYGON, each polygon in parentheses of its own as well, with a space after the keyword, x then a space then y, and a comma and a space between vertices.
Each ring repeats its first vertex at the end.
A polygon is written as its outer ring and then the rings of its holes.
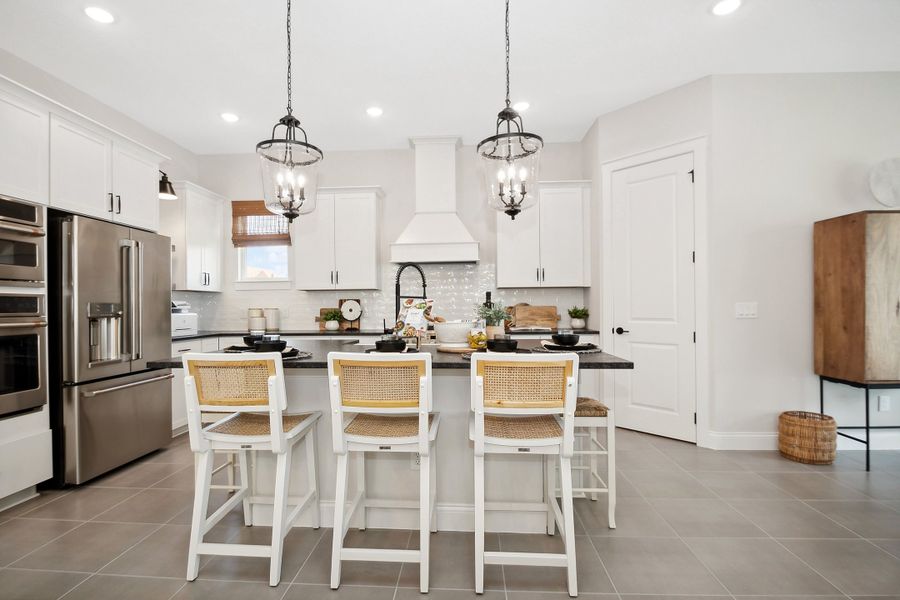
POLYGON ((476 152, 488 193, 488 206, 515 220, 537 203, 538 169, 544 140, 522 127, 522 117, 509 103, 509 0, 506 0, 506 106, 497 114, 494 135, 481 140, 476 152))

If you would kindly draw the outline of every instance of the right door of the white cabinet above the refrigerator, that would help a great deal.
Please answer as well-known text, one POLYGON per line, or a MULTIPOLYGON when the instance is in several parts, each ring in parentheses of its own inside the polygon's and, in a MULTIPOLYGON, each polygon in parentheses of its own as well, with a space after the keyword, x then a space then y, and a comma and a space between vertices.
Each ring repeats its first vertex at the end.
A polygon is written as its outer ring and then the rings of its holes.
POLYGON ((125 142, 113 143, 113 220, 143 229, 159 229, 159 163, 125 142))

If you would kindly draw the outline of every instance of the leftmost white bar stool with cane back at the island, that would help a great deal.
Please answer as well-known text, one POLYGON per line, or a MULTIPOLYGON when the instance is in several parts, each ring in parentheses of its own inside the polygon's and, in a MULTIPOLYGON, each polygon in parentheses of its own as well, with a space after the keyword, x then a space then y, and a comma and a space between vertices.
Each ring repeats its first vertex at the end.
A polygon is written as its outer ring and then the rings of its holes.
POLYGON ((268 557, 269 585, 281 580, 284 538, 297 516, 309 506, 313 526, 319 526, 319 488, 316 469, 315 425, 319 412, 284 414, 287 396, 281 354, 265 352, 246 355, 185 354, 185 396, 188 404, 188 431, 191 449, 197 454, 194 510, 188 547, 187 579, 199 572, 199 555, 268 557), (232 413, 203 426, 202 413, 232 413), (307 492, 302 498, 288 497, 291 458, 294 447, 306 442, 307 492), (240 463, 240 488, 218 510, 206 516, 212 488, 213 453, 232 451, 240 463), (276 457, 275 495, 250 495, 248 454, 272 452, 276 457), (244 524, 250 525, 253 504, 272 504, 272 542, 259 544, 214 544, 203 536, 234 507, 243 503, 244 524), (292 510, 288 512, 288 507, 292 510))

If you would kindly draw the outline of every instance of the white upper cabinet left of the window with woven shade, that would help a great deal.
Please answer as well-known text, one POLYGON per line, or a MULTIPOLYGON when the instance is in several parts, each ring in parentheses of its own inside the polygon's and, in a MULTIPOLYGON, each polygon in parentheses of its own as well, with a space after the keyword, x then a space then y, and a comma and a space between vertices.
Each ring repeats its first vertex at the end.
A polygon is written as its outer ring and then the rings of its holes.
POLYGON ((177 200, 160 203, 159 232, 172 238, 172 289, 221 292, 225 199, 174 181, 177 200))

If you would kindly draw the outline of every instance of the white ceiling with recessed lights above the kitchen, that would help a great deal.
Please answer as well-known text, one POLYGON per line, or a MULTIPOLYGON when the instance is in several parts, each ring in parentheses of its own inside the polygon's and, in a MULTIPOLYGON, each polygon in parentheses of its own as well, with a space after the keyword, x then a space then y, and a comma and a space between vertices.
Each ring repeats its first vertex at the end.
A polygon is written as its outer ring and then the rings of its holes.
MULTIPOLYGON (((593 119, 713 73, 900 70, 898 0, 513 0, 527 129, 593 119)), ((200 154, 251 152, 284 113, 284 0, 0 0, 0 48, 200 154), (100 25, 86 5, 117 21, 100 25), (224 123, 231 111, 241 120, 224 123)), ((491 133, 501 0, 294 0, 294 107, 329 150, 491 133), (378 105, 384 116, 365 109, 378 105)))

